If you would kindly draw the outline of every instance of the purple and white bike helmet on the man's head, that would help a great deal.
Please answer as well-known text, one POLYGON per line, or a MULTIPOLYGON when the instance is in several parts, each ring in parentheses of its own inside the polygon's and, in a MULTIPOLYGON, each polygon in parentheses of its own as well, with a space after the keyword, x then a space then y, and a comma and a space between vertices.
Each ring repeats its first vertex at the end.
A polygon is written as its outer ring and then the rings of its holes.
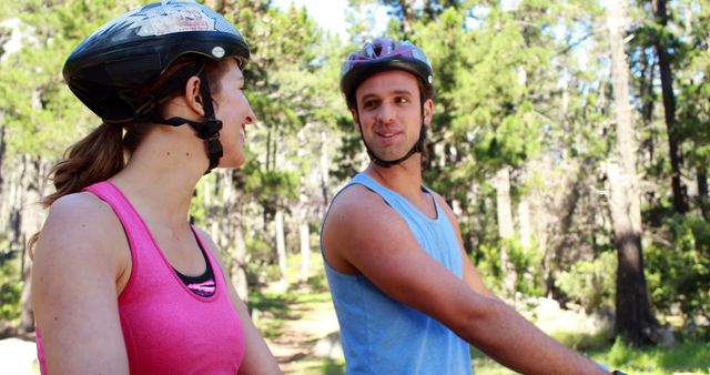
POLYGON ((418 77, 427 89, 434 87, 432 64, 420 48, 409 41, 378 38, 366 42, 343 62, 341 91, 345 98, 352 98, 357 85, 367 77, 387 70, 407 71, 418 77))

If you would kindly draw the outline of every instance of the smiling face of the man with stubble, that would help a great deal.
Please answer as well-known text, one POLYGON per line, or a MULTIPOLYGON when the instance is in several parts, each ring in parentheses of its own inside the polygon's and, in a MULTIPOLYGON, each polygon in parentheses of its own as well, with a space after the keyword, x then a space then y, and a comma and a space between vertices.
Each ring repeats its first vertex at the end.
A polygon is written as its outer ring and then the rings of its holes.
MULTIPOLYGON (((367 78, 355 91, 357 113, 352 111, 355 126, 357 114, 363 138, 369 149, 383 160, 404 156, 419 139, 422 107, 415 75, 392 70, 367 78)), ((433 102, 424 103, 424 123, 432 119, 433 102)))

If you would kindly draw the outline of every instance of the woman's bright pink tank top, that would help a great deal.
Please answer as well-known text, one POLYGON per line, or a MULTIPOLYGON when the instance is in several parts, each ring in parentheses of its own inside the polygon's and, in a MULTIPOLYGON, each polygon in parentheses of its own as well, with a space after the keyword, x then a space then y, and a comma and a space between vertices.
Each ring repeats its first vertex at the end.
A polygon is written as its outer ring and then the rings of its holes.
MULTIPOLYGON (((85 191, 111 205, 131 247, 131 277, 119 295, 131 374, 236 374, 244 357, 244 332, 222 270, 209 247, 199 240, 214 270, 216 291, 201 297, 175 274, 143 220, 115 185, 105 181, 85 191)), ((40 369, 47 375, 39 332, 37 336, 40 369)))

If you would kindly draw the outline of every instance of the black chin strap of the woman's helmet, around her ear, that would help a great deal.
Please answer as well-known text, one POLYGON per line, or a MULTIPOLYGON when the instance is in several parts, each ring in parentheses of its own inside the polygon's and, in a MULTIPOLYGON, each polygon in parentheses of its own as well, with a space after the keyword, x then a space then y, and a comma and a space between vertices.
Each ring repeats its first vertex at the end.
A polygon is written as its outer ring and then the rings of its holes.
MULTIPOLYGON (((220 142, 220 130, 222 130, 222 121, 214 116, 214 105, 212 103, 212 95, 210 93, 210 84, 207 82, 207 74, 204 72, 204 65, 193 65, 181 70, 171 77, 165 84, 152 94, 148 94, 139 98, 138 100, 129 101, 138 105, 135 110, 136 122, 153 122, 159 124, 165 124, 171 126, 181 126, 189 124, 195 131, 197 138, 205 140, 207 158, 210 159, 210 166, 204 174, 210 173, 217 164, 220 159, 224 154, 222 143, 220 142), (165 102, 170 94, 173 92, 180 92, 185 81, 192 77, 200 77, 200 92, 202 93, 203 108, 204 108, 204 121, 192 121, 180 116, 165 119, 156 109, 160 104, 165 102)), ((128 98, 124 98, 128 101, 128 98)))

